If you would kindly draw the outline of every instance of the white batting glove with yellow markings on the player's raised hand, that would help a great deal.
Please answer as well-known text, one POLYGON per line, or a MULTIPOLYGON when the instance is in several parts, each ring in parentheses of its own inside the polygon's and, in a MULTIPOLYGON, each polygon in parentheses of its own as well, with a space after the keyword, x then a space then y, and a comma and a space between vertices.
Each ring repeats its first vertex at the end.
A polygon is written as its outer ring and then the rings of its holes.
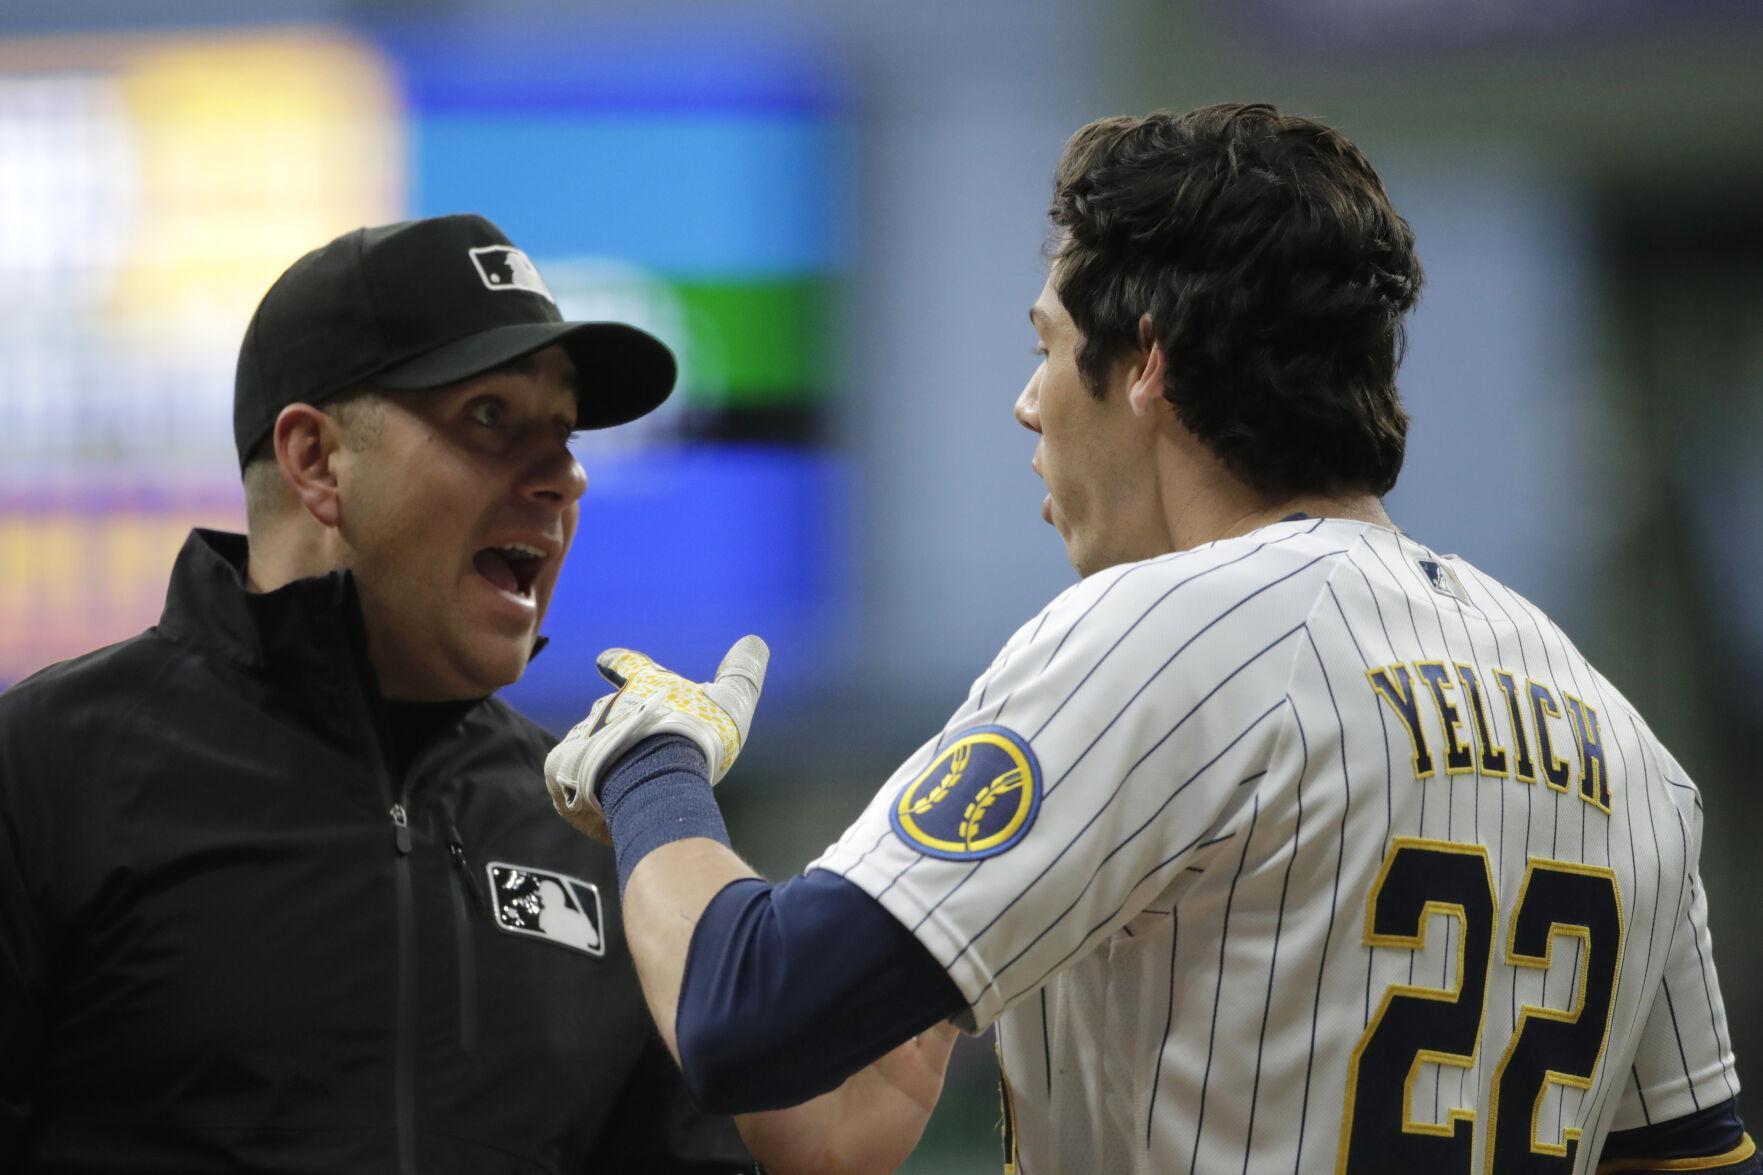
POLYGON ((753 709, 765 685, 770 649, 742 637, 716 667, 714 681, 686 681, 631 649, 606 649, 596 658, 601 676, 619 686, 587 711, 545 757, 545 787, 557 815, 578 831, 610 843, 599 806, 599 783, 619 755, 652 734, 682 734, 698 745, 718 783, 753 729, 753 709))

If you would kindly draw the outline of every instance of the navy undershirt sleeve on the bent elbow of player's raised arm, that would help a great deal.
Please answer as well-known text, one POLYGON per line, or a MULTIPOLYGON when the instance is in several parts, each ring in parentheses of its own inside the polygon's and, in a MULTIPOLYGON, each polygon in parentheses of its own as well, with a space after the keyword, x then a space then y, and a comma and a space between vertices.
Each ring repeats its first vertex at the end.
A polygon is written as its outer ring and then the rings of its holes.
POLYGON ((966 1006, 911 932, 837 873, 749 877, 725 886, 693 932, 681 1069, 705 1110, 777 1110, 966 1006))

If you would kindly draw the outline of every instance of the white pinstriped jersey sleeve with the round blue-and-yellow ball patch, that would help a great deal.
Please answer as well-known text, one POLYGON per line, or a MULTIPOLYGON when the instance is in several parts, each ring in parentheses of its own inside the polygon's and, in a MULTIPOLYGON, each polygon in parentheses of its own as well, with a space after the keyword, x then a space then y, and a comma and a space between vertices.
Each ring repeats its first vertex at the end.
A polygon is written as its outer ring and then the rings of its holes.
POLYGON ((1091 575, 1021 628, 809 868, 899 919, 982 1030, 1246 813, 1317 584, 1253 547, 1091 575))

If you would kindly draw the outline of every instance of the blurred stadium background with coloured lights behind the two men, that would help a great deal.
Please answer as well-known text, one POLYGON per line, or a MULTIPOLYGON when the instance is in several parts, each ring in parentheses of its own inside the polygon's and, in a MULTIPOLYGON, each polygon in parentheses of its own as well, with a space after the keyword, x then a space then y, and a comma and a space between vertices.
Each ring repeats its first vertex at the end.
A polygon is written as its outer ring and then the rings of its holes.
MULTIPOLYGON (((1345 129, 1419 236, 1391 513, 1553 612, 1701 783, 1758 1073, 1759 55, 1742 0, 0 5, 0 686, 153 623, 187 528, 242 529, 270 281, 476 210, 684 370, 582 438, 510 695, 564 727, 603 646, 703 674, 763 633, 723 796, 785 875, 1072 582, 1010 418, 1065 138, 1269 99, 1345 129)), ((910 1171, 998 1170, 989 1043, 956 1062, 910 1171)))

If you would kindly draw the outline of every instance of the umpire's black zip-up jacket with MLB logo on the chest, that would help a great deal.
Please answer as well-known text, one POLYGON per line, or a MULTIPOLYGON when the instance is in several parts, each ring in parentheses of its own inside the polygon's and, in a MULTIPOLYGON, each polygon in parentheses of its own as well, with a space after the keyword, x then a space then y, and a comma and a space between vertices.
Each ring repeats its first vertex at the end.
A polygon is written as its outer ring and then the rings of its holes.
POLYGON ((194 533, 157 628, 0 695, 0 1171, 749 1170, 548 736, 390 753, 351 577, 243 558, 194 533))

